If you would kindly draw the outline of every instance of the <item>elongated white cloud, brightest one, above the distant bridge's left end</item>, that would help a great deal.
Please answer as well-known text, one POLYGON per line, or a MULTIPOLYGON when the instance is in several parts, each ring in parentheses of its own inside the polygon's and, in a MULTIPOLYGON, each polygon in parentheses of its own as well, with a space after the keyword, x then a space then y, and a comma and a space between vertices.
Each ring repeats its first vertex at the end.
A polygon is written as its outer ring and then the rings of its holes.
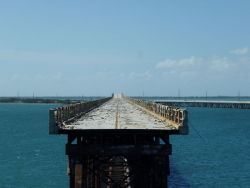
POLYGON ((166 59, 156 64, 156 68, 191 67, 202 62, 202 58, 190 57, 180 60, 166 59))

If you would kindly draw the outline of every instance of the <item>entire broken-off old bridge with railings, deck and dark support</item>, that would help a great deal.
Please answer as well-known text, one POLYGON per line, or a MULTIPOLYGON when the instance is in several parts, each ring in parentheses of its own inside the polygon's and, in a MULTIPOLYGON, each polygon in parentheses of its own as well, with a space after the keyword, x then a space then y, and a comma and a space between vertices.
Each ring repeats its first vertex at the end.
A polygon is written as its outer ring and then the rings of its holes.
POLYGON ((120 94, 50 110, 67 134, 70 188, 166 188, 169 135, 188 134, 187 111, 120 94))

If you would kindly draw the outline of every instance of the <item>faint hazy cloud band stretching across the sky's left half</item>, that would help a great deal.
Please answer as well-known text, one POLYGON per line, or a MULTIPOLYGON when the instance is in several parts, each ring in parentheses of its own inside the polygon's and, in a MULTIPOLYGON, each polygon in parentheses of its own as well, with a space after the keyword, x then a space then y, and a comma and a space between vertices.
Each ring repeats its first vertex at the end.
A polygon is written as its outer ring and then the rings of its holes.
POLYGON ((134 61, 133 58, 116 53, 96 52, 43 52, 22 50, 0 50, 0 64, 44 64, 44 65, 86 65, 112 66, 134 61))

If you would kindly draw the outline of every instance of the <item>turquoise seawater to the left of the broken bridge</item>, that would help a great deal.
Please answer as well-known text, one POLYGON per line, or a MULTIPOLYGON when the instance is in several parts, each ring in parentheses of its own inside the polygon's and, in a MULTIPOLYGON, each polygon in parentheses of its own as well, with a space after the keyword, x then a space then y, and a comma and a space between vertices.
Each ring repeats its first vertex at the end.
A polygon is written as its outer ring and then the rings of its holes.
POLYGON ((48 134, 54 105, 0 104, 0 188, 67 188, 66 136, 48 134))

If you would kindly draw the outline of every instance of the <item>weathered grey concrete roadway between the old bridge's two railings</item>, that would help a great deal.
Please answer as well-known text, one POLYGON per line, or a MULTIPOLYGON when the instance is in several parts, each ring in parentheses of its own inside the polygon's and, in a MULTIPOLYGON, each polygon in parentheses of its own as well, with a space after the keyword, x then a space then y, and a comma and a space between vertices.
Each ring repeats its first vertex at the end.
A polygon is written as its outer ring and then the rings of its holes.
POLYGON ((176 130, 129 103, 121 95, 114 96, 100 107, 85 114, 79 120, 65 125, 64 129, 158 129, 176 130))

